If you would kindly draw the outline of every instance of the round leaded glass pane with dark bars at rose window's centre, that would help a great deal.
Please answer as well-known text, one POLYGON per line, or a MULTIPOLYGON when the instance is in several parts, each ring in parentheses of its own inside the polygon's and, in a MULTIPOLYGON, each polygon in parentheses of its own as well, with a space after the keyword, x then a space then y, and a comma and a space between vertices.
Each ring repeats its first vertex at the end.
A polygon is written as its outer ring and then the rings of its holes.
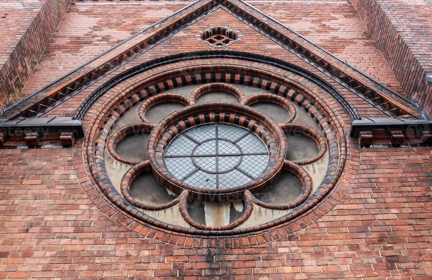
POLYGON ((165 166, 199 188, 228 189, 257 180, 269 153, 252 131, 226 123, 203 124, 178 134, 165 151, 165 166))

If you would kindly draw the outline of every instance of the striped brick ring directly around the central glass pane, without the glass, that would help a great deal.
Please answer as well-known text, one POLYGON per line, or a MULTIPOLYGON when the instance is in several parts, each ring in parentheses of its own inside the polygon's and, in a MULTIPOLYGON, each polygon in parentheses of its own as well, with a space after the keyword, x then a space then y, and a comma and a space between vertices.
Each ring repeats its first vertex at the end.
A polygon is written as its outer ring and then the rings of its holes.
POLYGON ((152 130, 147 156, 156 179, 177 194, 182 190, 202 195, 203 199, 238 197, 245 190, 258 192, 272 183, 283 170, 286 140, 283 130, 270 117, 246 105, 230 102, 205 102, 179 109, 164 118, 152 130), (187 185, 173 177, 165 166, 164 155, 169 142, 182 131, 198 124, 226 122, 245 127, 263 140, 269 151, 269 164, 257 180, 234 188, 204 189, 187 185))

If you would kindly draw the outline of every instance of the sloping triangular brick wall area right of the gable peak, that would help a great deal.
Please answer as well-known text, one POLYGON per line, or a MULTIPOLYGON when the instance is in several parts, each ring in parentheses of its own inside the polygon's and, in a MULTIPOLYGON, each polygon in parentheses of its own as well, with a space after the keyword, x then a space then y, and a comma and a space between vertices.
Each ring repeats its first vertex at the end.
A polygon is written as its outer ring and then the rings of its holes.
POLYGON ((251 4, 403 94, 398 81, 353 5, 344 1, 314 2, 251 4))

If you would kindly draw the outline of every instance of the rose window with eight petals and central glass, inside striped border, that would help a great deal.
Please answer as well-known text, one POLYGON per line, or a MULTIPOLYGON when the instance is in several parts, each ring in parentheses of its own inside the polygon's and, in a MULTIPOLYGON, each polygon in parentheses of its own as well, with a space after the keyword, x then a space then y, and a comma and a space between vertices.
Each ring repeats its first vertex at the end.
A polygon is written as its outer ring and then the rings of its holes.
POLYGON ((96 141, 104 192, 128 215, 171 231, 229 235, 271 225, 333 172, 331 129, 326 139, 302 109, 311 103, 300 101, 229 83, 136 95, 96 141))

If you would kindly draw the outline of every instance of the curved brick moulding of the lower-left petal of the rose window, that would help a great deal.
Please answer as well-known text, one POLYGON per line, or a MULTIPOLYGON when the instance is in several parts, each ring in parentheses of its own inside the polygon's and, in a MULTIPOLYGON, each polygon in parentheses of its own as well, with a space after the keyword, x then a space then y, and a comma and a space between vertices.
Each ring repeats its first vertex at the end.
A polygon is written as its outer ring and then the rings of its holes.
POLYGON ((137 208, 143 210, 150 210, 150 211, 164 210, 178 204, 180 202, 180 196, 162 205, 143 204, 133 199, 133 197, 130 195, 129 192, 130 185, 132 184, 133 180, 135 180, 135 178, 137 178, 139 175, 143 173, 150 172, 150 170, 151 170, 150 162, 146 160, 144 162, 138 163, 137 165, 133 165, 123 176, 123 178, 121 179, 120 189, 121 189, 121 193, 123 194, 123 197, 127 200, 127 202, 129 202, 131 205, 137 208))

